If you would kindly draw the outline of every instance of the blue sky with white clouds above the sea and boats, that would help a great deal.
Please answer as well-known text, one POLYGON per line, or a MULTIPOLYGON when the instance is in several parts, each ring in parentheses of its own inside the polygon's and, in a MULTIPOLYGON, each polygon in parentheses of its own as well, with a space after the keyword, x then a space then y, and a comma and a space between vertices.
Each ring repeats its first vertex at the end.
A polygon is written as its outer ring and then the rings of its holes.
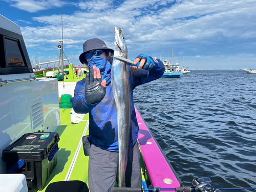
POLYGON ((189 69, 256 69, 256 0, 0 0, 0 14, 20 26, 31 62, 58 59, 63 29, 63 51, 80 66, 84 41, 114 48, 117 26, 131 60, 173 55, 189 69))

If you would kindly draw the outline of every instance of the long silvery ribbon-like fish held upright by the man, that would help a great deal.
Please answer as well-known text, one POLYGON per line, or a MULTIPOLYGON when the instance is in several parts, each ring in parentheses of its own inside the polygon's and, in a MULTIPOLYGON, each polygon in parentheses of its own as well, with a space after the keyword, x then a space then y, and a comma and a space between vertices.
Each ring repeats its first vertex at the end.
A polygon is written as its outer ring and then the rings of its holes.
POLYGON ((127 58, 128 51, 122 30, 114 27, 115 52, 111 67, 111 83, 117 105, 117 124, 119 142, 119 187, 123 187, 127 166, 127 151, 130 141, 132 98, 130 92, 130 66, 115 57, 127 58))

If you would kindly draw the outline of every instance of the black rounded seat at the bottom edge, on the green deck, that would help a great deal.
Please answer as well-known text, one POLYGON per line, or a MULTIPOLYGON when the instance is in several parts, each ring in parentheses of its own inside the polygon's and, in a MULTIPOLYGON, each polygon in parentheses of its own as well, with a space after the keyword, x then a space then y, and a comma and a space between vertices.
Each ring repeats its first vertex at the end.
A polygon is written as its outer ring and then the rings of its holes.
POLYGON ((82 181, 58 181, 48 185, 45 192, 89 192, 82 181))

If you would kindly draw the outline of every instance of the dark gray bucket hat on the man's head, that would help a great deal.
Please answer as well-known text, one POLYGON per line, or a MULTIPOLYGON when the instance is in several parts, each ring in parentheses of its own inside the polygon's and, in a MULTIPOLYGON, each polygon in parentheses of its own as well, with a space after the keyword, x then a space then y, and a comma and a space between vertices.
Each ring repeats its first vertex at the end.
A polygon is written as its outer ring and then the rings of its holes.
POLYGON ((79 60, 82 64, 86 63, 86 58, 84 57, 84 55, 86 54, 86 52, 91 50, 107 49, 110 50, 112 54, 114 54, 114 50, 106 47, 105 42, 98 38, 89 39, 84 42, 84 44, 82 45, 82 49, 83 53, 79 56, 79 60))

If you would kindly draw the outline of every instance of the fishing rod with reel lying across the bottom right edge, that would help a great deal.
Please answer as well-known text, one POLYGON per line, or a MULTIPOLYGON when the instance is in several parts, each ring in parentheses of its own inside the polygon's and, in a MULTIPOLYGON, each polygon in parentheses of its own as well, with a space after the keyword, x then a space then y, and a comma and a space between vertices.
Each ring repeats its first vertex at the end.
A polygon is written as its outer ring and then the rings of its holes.
POLYGON ((113 187, 112 192, 138 192, 138 191, 172 191, 177 192, 221 192, 221 190, 246 190, 246 189, 256 189, 256 187, 244 187, 244 188, 212 188, 210 183, 211 180, 208 177, 198 177, 191 181, 193 187, 178 187, 178 188, 130 188, 130 187, 113 187))

